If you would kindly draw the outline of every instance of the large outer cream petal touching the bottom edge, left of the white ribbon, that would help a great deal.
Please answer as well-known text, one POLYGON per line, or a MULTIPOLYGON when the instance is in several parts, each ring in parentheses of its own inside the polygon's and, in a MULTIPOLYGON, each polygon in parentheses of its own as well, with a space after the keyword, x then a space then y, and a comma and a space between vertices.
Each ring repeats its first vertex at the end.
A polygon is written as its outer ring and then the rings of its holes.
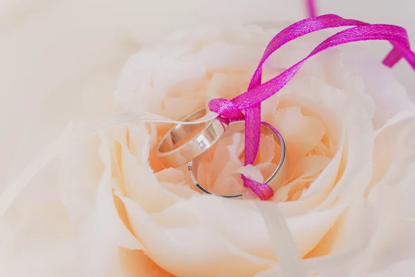
MULTIPOLYGON (((198 197, 199 198, 199 197, 198 197)), ((135 233, 154 262, 176 276, 252 276, 275 263, 252 256, 205 226, 164 228, 122 197, 135 233)))

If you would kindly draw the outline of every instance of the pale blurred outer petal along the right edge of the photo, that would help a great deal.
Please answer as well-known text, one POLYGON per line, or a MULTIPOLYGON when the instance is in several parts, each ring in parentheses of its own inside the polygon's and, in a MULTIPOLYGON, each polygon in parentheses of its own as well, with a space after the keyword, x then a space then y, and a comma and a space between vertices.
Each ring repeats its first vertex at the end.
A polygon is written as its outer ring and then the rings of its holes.
POLYGON ((378 213, 378 231, 355 276, 387 276, 413 269, 405 261, 415 256, 414 240, 409 239, 415 228, 414 135, 413 113, 402 113, 391 118, 376 136, 374 161, 379 169, 367 193, 378 213), (385 145, 390 148, 383 149, 385 145))

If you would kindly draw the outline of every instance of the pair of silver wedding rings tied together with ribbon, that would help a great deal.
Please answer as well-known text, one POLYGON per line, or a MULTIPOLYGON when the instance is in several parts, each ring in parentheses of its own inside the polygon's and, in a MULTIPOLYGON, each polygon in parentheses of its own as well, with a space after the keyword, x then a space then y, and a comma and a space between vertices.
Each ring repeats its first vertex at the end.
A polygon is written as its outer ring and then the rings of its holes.
MULTIPOLYGON (((194 111, 181 121, 190 122, 202 118, 206 114, 206 109, 194 111)), ((177 168, 187 163, 190 177, 196 188, 203 193, 218 195, 221 197, 238 198, 242 194, 222 195, 212 193, 197 181, 197 169, 203 154, 212 148, 212 146, 225 136, 241 132, 245 128, 245 121, 231 121, 229 124, 223 123, 223 120, 214 118, 207 123, 199 124, 178 124, 163 136, 158 144, 156 155, 166 168, 177 168)), ((284 161, 286 159, 286 146, 282 135, 272 126, 262 123, 261 133, 272 134, 281 146, 281 157, 273 173, 266 179, 265 184, 270 183, 275 177, 282 172, 284 161)))

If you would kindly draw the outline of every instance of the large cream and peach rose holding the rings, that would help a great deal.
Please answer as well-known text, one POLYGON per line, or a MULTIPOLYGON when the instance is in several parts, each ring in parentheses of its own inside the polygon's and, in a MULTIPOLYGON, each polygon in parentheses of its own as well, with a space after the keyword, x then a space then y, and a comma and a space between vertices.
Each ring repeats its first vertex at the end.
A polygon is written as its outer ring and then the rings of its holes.
MULTIPOLYGON (((237 96, 276 33, 257 26, 176 33, 127 61, 116 110, 180 119, 212 98, 237 96)), ((277 51, 264 80, 306 56, 319 37, 277 51)), ((262 118, 282 132, 289 154, 289 179, 269 207, 284 214, 310 273, 377 272, 382 268, 374 261, 383 256, 375 249, 403 248, 396 237, 414 228, 407 221, 413 218, 407 191, 415 177, 407 166, 415 165, 414 111, 391 71, 352 46, 313 57, 264 102, 262 118)), ((280 276, 268 228, 251 200, 201 195, 186 166, 163 169, 154 148, 166 131, 160 124, 120 126, 62 156, 59 199, 65 209, 44 210, 72 230, 57 238, 70 253, 60 270, 84 276, 280 276), (76 243, 66 244, 70 239, 76 243)), ((397 261, 414 258, 415 246, 405 249, 412 252, 400 251, 397 261)))

